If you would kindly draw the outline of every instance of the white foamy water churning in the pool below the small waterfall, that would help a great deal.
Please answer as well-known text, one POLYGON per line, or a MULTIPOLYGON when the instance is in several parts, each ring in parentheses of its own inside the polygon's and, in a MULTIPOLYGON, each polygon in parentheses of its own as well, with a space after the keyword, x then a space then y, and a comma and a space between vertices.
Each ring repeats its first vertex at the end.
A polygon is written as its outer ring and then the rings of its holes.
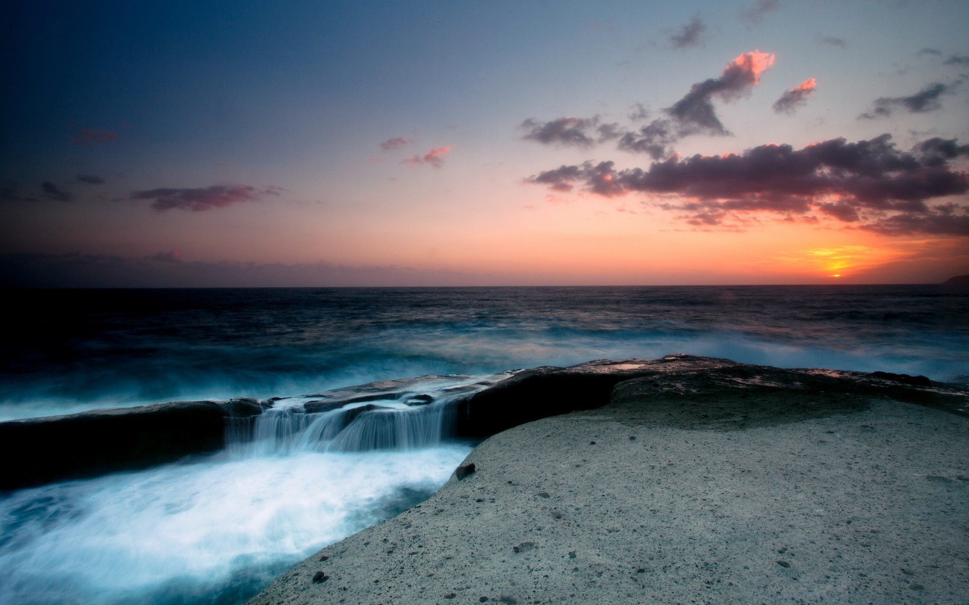
POLYGON ((211 602, 425 498, 469 451, 219 455, 21 490, 0 500, 0 602, 211 602))

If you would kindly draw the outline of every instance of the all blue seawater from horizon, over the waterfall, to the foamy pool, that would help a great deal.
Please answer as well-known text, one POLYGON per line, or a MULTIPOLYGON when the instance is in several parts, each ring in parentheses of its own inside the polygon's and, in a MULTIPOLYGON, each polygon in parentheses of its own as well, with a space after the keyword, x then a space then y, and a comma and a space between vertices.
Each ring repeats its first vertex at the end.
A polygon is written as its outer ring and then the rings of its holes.
POLYGON ((394 439, 364 439, 353 424, 340 433, 327 415, 336 412, 294 413, 328 389, 428 376, 414 392, 446 402, 516 368, 673 352, 969 376, 969 287, 6 294, 0 420, 287 399, 260 417, 256 439, 224 452, 0 494, 0 603, 239 603, 317 549, 433 494, 475 445, 448 439, 434 406, 420 417, 397 409, 406 422, 394 439))

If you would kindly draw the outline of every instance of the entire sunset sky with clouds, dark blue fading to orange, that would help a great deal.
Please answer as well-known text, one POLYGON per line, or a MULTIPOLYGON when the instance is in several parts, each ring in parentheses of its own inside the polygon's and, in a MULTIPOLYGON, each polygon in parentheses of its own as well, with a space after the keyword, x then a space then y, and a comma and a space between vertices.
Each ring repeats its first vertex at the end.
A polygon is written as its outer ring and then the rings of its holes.
POLYGON ((969 3, 18 3, 0 285, 939 283, 969 3))

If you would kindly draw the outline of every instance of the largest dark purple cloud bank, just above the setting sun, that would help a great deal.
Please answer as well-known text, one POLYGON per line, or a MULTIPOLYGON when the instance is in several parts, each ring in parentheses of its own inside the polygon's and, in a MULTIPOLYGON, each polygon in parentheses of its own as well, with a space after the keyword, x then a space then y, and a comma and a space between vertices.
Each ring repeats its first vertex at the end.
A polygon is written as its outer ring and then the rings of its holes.
POLYGON ((950 161, 969 157, 969 145, 931 138, 900 151, 891 135, 849 143, 832 138, 795 150, 766 144, 742 154, 673 156, 646 169, 615 170, 612 162, 560 166, 526 182, 557 192, 619 197, 644 193, 679 197, 657 203, 695 226, 719 226, 758 213, 785 220, 834 221, 891 234, 969 236, 969 206, 926 201, 965 196, 969 174, 950 161))

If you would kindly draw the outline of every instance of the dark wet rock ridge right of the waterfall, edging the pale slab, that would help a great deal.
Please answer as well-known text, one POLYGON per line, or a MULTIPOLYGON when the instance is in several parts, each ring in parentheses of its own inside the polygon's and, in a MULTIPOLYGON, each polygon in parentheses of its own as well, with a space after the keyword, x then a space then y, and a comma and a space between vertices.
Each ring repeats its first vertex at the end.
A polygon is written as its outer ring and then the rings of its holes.
POLYGON ((610 403, 613 387, 630 380, 636 384, 626 385, 626 390, 635 390, 639 398, 660 398, 657 402, 672 397, 699 405, 700 394, 733 393, 745 398, 790 392, 822 399, 847 394, 889 397, 967 412, 964 397, 960 399, 964 389, 942 384, 933 388, 927 378, 898 378, 903 376, 787 370, 686 354, 590 361, 569 368, 545 366, 519 372, 459 401, 455 431, 462 437, 483 438, 540 418, 602 408, 610 403))

